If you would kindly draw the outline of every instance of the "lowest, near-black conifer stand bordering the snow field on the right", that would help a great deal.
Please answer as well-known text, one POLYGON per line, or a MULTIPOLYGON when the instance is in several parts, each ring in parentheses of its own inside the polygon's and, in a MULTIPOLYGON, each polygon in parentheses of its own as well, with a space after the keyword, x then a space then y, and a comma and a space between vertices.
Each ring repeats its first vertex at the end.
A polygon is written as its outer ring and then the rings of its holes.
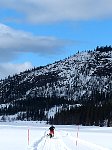
POLYGON ((54 118, 50 118, 51 124, 75 124, 84 126, 112 126, 112 103, 96 105, 82 105, 75 108, 62 110, 54 118))

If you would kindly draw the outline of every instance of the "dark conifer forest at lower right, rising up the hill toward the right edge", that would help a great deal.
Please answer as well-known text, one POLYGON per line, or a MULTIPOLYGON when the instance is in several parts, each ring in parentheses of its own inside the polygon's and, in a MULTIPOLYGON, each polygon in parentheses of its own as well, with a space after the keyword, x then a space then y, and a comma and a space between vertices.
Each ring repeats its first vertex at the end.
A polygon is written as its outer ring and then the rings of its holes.
POLYGON ((84 126, 112 126, 112 95, 93 92, 91 98, 84 98, 82 104, 63 109, 54 118, 49 119, 51 124, 76 124, 84 126))

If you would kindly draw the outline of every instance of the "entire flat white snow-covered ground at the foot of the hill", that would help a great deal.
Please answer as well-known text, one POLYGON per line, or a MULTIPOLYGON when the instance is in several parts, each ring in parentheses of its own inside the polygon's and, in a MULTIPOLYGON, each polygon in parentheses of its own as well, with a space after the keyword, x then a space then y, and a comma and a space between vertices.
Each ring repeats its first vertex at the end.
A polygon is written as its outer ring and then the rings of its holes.
POLYGON ((111 127, 55 126, 37 122, 0 122, 0 150, 112 150, 111 127))

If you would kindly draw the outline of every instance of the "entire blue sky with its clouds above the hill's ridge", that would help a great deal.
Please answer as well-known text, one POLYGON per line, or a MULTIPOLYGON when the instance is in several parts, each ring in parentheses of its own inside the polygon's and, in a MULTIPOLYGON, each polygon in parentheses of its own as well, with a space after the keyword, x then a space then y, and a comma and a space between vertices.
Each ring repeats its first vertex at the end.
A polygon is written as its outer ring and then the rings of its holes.
POLYGON ((111 0, 0 1, 0 79, 111 41, 111 0))

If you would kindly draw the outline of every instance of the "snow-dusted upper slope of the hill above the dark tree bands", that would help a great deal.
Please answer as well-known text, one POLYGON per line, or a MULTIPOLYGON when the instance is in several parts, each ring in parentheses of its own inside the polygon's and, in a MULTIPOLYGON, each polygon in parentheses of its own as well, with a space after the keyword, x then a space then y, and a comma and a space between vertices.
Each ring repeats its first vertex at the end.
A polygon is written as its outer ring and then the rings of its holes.
MULTIPOLYGON (((19 113, 24 112, 26 101, 33 102, 39 97, 41 100, 42 97, 52 97, 79 102, 91 100, 98 93, 105 96, 108 94, 108 97, 112 95, 112 48, 107 46, 95 51, 77 53, 53 64, 1 80, 1 114, 2 109, 7 110, 9 106, 8 111, 14 106, 14 113, 17 113, 17 107, 19 113)), ((45 106, 45 102, 41 102, 45 106)), ((55 107, 55 102, 52 107, 55 107)), ((49 109, 47 104, 46 109, 49 109)))

